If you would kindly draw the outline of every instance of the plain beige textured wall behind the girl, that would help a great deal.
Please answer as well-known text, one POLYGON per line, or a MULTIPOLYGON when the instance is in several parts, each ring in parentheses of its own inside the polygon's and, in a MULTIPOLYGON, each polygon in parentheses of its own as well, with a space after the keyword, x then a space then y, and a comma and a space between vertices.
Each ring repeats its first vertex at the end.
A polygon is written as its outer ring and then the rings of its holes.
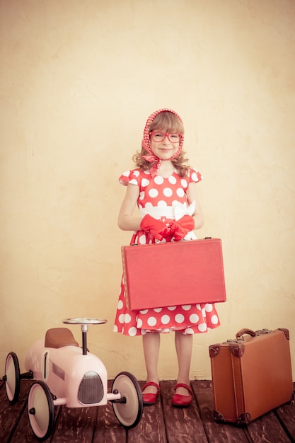
POLYGON ((0 21, 1 367, 63 318, 98 316, 88 345, 110 378, 144 379, 141 339, 112 333, 131 236, 117 178, 146 117, 170 107, 228 295, 221 327, 195 335, 192 378, 210 379, 208 346, 245 327, 289 328, 295 370, 294 1, 1 0, 0 21))

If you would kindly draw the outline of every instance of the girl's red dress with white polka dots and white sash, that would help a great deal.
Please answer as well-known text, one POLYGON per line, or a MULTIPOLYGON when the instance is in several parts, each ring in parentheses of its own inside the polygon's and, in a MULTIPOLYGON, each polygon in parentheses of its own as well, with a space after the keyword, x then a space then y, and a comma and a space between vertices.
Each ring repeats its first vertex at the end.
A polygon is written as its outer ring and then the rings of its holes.
MULTIPOLYGON (((120 176, 120 183, 139 186, 137 205, 141 217, 150 214, 163 222, 178 220, 184 214, 192 215, 195 207, 188 205, 186 190, 190 183, 202 180, 201 174, 190 168, 186 177, 180 177, 175 171, 170 177, 151 176, 149 171, 137 168, 127 171, 120 176)), ((186 240, 195 239, 194 231, 185 236, 186 240)), ((166 240, 163 240, 166 241, 166 240)), ((173 238, 171 239, 173 241, 173 238)), ((135 231, 130 243, 151 243, 150 234, 145 231, 135 231)), ((144 335, 150 331, 168 333, 171 330, 181 330, 184 334, 204 333, 208 329, 219 326, 219 317, 214 304, 191 304, 183 306, 168 306, 142 311, 129 311, 125 299, 125 286, 122 278, 121 292, 117 304, 114 331, 124 335, 144 335)))

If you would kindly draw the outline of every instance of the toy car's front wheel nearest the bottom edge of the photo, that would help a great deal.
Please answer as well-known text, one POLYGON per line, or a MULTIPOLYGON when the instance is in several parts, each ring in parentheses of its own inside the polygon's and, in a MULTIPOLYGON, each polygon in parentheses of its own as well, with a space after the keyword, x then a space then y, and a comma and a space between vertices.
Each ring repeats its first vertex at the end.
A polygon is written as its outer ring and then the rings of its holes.
POLYGON ((54 404, 50 389, 43 381, 35 381, 30 387, 28 416, 37 439, 50 437, 54 427, 54 404))

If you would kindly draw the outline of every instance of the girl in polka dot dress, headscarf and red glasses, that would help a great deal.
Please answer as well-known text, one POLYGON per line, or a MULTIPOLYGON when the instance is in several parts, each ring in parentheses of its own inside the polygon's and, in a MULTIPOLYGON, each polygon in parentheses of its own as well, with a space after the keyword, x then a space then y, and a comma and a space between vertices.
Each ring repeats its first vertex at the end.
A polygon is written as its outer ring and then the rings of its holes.
MULTIPOLYGON (((160 109, 150 115, 144 127, 141 152, 134 155, 137 168, 120 177, 127 186, 118 217, 120 229, 134 231, 131 243, 180 241, 196 238, 194 229, 204 224, 197 199, 196 183, 201 174, 187 166, 183 152, 183 121, 175 111, 160 109), (134 217, 136 205, 141 218, 134 217)), ((177 269, 177 263, 175 263, 177 269)), ((180 294, 181 296, 181 294, 180 294)), ((158 353, 160 333, 175 331, 178 378, 172 404, 192 403, 190 361, 192 335, 219 326, 214 304, 193 304, 129 311, 122 279, 115 318, 115 332, 142 335, 146 363, 144 404, 156 403, 160 392, 158 353)))

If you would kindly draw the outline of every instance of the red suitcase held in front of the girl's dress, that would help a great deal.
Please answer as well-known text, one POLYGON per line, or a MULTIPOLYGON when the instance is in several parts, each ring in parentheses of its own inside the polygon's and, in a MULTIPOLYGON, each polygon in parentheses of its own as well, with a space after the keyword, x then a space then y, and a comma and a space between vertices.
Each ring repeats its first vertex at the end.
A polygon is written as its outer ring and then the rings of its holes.
POLYGON ((221 240, 122 246, 131 311, 226 301, 221 240))

